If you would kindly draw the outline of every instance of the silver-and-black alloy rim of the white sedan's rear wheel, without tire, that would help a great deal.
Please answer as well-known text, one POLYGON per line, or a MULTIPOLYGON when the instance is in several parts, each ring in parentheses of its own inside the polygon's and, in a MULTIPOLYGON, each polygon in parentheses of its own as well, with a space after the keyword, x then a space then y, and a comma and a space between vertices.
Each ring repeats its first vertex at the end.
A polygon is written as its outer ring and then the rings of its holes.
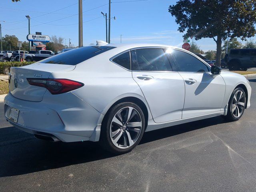
POLYGON ((136 143, 141 130, 142 119, 138 110, 133 107, 124 107, 112 118, 110 138, 117 148, 126 149, 136 143))

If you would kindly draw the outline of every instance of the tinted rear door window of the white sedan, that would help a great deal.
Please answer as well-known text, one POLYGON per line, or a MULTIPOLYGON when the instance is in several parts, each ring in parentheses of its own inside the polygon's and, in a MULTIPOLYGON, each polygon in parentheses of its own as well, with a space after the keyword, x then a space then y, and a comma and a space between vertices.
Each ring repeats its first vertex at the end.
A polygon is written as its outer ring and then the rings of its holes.
POLYGON ((170 62, 163 49, 148 48, 131 51, 132 70, 135 71, 172 71, 170 62))

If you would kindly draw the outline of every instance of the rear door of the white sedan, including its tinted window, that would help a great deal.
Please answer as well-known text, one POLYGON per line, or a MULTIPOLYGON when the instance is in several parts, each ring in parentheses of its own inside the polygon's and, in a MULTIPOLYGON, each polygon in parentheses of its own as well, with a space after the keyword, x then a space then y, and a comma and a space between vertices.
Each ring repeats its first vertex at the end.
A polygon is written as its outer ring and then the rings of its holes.
POLYGON ((140 86, 156 123, 179 120, 185 98, 184 80, 173 71, 163 48, 131 50, 132 77, 140 86))

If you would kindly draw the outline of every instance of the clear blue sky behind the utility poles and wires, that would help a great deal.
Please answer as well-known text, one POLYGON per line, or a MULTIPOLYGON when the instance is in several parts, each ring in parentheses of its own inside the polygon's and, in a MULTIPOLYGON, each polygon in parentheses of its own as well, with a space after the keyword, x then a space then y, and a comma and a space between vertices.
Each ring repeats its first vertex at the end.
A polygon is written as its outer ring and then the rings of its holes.
MULTIPOLYGON (((112 43, 120 43, 122 34, 122 43, 143 42, 182 46, 183 34, 177 31, 175 18, 168 12, 168 7, 175 4, 176 0, 123 1, 129 0, 112 0, 111 16, 117 18, 111 20, 112 43)), ((25 15, 29 15, 31 34, 42 32, 49 36, 62 36, 66 38, 67 45, 70 38, 72 44, 77 46, 78 15, 74 15, 78 14, 77 2, 78 0, 21 0, 13 3, 11 0, 1 0, 0 20, 6 21, 1 22, 2 36, 11 34, 25 41, 28 34, 28 21, 25 15), (75 5, 70 6, 72 4, 75 5), (70 7, 64 8, 66 6, 70 7), (54 12, 55 10, 59 11, 54 12), (47 14, 49 12, 54 14, 47 14)), ((108 0, 84 0, 83 11, 84 46, 96 43, 96 40, 106 40, 105 19, 100 12, 108 13, 108 0)), ((196 43, 204 51, 216 49, 216 43, 209 38, 198 40, 196 43)))

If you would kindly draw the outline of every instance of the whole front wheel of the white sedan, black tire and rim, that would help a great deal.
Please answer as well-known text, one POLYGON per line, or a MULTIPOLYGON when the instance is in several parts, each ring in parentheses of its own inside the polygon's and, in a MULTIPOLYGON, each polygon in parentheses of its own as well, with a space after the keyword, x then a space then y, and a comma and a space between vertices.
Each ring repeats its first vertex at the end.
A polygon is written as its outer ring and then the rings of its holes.
POLYGON ((225 116, 231 121, 239 120, 244 114, 246 94, 242 88, 236 88, 228 102, 228 114, 225 116))

